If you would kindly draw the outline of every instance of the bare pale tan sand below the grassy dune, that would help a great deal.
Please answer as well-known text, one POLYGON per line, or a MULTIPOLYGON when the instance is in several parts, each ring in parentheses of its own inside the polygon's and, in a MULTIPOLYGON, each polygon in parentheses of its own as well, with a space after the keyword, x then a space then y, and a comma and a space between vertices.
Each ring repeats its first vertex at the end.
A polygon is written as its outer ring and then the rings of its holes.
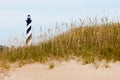
POLYGON ((97 69, 93 64, 83 65, 74 60, 55 63, 53 69, 49 69, 49 64, 27 64, 11 69, 4 80, 120 80, 120 62, 97 69))

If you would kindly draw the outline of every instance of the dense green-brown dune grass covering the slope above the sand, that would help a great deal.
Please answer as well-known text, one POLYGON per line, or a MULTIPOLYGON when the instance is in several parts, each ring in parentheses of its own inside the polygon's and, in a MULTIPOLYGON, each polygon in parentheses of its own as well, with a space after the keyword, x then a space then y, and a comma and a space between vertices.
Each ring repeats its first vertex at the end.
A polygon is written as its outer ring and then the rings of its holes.
POLYGON ((20 66, 75 57, 84 63, 120 61, 120 24, 73 26, 69 31, 48 41, 0 53, 1 61, 19 62, 20 66))

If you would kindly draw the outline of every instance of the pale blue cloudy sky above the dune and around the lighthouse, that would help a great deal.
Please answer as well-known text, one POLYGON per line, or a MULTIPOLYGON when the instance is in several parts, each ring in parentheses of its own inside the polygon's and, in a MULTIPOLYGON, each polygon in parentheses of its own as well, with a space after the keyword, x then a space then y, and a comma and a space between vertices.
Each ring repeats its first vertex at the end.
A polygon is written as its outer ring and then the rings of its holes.
POLYGON ((0 44, 14 45, 11 40, 15 38, 25 40, 28 14, 35 36, 40 34, 40 27, 53 28, 60 21, 96 16, 120 18, 120 0, 0 0, 0 44))

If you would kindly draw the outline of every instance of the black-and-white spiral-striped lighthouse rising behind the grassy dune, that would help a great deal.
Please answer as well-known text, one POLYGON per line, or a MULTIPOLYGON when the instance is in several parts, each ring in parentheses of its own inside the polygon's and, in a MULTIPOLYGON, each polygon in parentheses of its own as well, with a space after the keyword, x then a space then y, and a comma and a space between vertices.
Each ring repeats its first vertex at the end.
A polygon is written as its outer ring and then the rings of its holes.
POLYGON ((31 16, 27 15, 27 30, 26 30, 26 45, 31 45, 32 44, 32 20, 31 20, 31 16))

